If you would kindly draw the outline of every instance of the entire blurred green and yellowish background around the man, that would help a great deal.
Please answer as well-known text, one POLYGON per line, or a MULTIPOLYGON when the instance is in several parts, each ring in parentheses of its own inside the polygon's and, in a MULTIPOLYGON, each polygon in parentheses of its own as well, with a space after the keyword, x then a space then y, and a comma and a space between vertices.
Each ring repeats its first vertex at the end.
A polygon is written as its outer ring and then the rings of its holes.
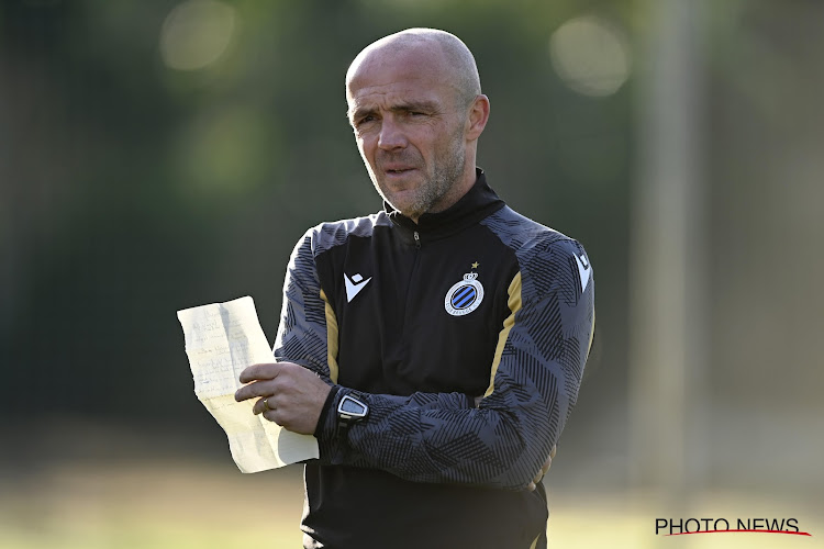
POLYGON ((343 78, 409 26, 474 52, 479 165, 595 268, 550 542, 823 547, 817 0, 3 1, 0 547, 299 547, 300 468, 237 471, 175 312, 253 295, 271 339, 303 231, 380 208, 343 78), (813 537, 655 536, 691 516, 813 537))

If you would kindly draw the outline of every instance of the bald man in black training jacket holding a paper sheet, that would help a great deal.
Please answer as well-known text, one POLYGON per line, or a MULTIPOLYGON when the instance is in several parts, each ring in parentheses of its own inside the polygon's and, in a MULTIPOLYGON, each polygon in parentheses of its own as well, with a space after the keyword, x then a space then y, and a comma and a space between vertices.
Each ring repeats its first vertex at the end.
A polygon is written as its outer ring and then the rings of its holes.
POLYGON ((301 238, 278 363, 246 369, 236 397, 318 438, 307 548, 545 547, 539 481, 591 344, 589 260, 476 168, 489 100, 457 37, 377 41, 346 99, 385 210, 301 238))

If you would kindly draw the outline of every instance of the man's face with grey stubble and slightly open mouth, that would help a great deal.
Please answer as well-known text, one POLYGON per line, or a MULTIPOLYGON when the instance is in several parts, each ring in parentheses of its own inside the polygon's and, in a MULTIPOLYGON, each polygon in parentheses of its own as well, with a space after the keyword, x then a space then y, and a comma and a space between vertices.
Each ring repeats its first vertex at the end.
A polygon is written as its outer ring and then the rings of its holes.
POLYGON ((432 59, 372 55, 347 83, 349 122, 383 199, 417 220, 443 210, 464 175, 466 109, 432 59))

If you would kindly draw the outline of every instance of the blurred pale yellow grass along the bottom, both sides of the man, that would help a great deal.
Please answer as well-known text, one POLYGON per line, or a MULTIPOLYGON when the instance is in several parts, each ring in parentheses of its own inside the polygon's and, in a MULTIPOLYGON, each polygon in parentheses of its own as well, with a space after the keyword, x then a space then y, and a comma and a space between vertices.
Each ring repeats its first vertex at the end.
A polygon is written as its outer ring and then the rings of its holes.
MULTIPOLYGON (((301 547, 299 467, 252 475, 230 464, 179 460, 64 463, 0 490, 3 549, 211 549, 301 547)), ((794 516, 813 537, 769 534, 655 536, 660 512, 628 494, 549 490, 556 548, 824 548, 824 520, 799 503, 735 494, 693 502, 684 516, 794 516)), ((666 516, 666 515, 664 515, 666 516)), ((506 549, 506 548, 502 548, 506 549)))

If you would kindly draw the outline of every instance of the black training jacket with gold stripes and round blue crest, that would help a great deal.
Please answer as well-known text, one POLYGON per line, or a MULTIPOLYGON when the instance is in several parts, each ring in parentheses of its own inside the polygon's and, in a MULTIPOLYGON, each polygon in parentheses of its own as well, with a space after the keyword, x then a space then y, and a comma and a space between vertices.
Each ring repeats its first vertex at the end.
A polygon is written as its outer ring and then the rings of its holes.
POLYGON ((275 343, 335 389, 305 466, 304 546, 543 547, 546 494, 525 488, 575 405, 593 287, 581 245, 512 211, 481 170, 417 224, 387 205, 310 229, 275 343), (369 415, 341 433, 353 392, 369 415))

